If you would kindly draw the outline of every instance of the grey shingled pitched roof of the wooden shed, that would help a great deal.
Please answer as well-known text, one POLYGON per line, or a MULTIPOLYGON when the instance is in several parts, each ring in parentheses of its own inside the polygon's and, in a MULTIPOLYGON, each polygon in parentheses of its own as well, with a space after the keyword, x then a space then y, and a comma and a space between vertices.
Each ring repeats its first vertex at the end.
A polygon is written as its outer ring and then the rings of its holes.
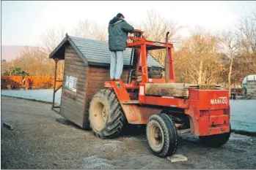
MULTIPOLYGON (((71 45, 78 55, 82 58, 84 63, 96 66, 109 66, 110 51, 109 43, 107 41, 99 41, 95 39, 84 39, 76 36, 68 36, 60 42, 56 49, 49 55, 49 58, 65 59, 65 46, 71 45)), ((124 66, 130 65, 131 49, 127 48, 123 55, 124 66)), ((147 66, 156 66, 164 68, 161 63, 158 63, 150 53, 147 57, 147 66)))

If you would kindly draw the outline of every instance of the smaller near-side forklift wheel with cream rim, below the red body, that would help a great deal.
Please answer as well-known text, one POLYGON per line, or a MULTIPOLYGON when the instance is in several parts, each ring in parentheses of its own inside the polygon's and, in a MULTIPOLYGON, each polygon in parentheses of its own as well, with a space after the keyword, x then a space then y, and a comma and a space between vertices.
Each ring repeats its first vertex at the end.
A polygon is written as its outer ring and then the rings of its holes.
POLYGON ((178 131, 167 114, 158 113, 149 118, 147 142, 153 154, 158 157, 165 158, 175 154, 178 147, 178 131))

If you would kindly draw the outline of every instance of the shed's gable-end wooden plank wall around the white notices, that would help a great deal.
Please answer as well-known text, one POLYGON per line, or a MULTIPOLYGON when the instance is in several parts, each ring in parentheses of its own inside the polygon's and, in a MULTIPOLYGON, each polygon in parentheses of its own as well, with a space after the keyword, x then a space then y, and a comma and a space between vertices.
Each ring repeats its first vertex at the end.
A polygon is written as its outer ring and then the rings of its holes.
MULTIPOLYGON (((71 46, 65 49, 65 69, 64 77, 73 76, 77 78, 76 92, 62 88, 62 99, 60 115, 77 125, 84 127, 84 107, 87 88, 87 70, 88 66, 84 64, 81 57, 71 46)), ((63 82, 63 87, 65 82, 63 82)))

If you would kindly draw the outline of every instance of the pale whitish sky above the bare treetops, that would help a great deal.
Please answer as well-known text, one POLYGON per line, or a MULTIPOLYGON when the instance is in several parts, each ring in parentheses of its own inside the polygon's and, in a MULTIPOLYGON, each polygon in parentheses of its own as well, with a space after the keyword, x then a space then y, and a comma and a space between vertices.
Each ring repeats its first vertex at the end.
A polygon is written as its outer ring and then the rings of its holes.
POLYGON ((256 12, 256 1, 1 1, 1 45, 43 47, 48 28, 71 34, 79 20, 93 20, 107 28, 121 12, 128 23, 139 25, 153 9, 188 30, 203 26, 211 31, 234 29, 243 15, 256 12))

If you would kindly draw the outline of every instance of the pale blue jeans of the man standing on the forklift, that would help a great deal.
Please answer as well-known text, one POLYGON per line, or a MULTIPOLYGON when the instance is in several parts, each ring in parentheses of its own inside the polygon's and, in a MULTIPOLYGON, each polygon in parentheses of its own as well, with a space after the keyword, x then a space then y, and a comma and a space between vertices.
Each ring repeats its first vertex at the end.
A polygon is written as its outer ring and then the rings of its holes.
POLYGON ((110 78, 120 79, 123 67, 123 51, 111 51, 110 78))

